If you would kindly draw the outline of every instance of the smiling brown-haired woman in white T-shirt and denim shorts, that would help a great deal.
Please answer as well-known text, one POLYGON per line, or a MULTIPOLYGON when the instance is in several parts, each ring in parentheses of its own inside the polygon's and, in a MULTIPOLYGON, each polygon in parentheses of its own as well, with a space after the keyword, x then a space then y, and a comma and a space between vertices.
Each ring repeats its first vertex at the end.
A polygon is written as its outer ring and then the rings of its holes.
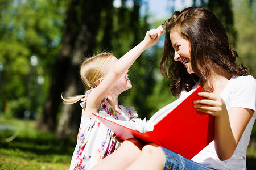
POLYGON ((198 84, 204 88, 206 92, 198 95, 205 99, 193 102, 198 111, 215 116, 214 141, 192 160, 155 144, 141 147, 139 141, 125 141, 94 168, 246 169, 246 148, 256 118, 256 81, 250 69, 236 64, 236 57, 212 12, 196 7, 174 12, 166 23, 160 71, 173 80, 175 96, 186 96, 198 84), (117 158, 126 163, 113 164, 117 158))

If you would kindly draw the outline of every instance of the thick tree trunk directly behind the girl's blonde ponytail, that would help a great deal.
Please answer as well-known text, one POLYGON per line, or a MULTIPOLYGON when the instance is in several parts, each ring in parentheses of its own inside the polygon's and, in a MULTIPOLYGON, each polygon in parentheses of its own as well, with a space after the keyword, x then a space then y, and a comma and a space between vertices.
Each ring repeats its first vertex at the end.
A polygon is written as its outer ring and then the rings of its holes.
MULTIPOLYGON (((88 56, 93 52, 96 42, 98 26, 100 25, 100 14, 106 5, 112 6, 112 0, 90 0, 82 3, 82 22, 79 36, 76 40, 76 46, 73 51, 71 67, 68 68, 66 81, 68 83, 65 89, 65 96, 75 96, 84 93, 79 75, 79 66, 83 56, 88 56)), ((78 104, 63 105, 61 118, 57 128, 57 138, 64 139, 75 137, 79 129, 81 120, 81 107, 78 104)))

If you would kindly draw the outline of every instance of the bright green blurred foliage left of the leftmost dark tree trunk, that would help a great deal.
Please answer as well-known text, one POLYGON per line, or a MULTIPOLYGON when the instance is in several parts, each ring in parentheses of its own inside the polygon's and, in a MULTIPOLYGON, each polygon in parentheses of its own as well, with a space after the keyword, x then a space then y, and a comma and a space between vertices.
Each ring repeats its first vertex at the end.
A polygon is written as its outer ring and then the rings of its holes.
POLYGON ((47 91, 53 58, 59 52, 66 2, 32 0, 0 3, 0 62, 4 66, 0 73, 0 97, 3 100, 0 111, 14 111, 17 108, 10 109, 13 104, 9 103, 24 99, 16 107, 21 110, 22 104, 28 101, 23 107, 36 112, 35 105, 42 104, 46 98, 46 93, 37 92, 47 91), (33 55, 38 57, 36 66, 30 63, 33 55), (44 77, 43 86, 36 85, 39 75, 44 77))

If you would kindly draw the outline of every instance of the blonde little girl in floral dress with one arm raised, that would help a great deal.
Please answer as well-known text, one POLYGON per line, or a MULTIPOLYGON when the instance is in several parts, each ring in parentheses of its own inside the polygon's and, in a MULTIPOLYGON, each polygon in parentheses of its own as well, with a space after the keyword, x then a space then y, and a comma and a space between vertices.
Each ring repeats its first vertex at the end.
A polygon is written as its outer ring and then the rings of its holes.
POLYGON ((85 95, 63 97, 66 104, 82 100, 81 124, 70 169, 90 169, 119 147, 112 131, 92 113, 125 121, 137 117, 134 108, 118 105, 118 95, 131 88, 127 74, 130 66, 144 50, 158 42, 162 33, 162 27, 148 31, 144 40, 119 60, 113 54, 102 53, 82 63, 81 80, 89 90, 85 95))

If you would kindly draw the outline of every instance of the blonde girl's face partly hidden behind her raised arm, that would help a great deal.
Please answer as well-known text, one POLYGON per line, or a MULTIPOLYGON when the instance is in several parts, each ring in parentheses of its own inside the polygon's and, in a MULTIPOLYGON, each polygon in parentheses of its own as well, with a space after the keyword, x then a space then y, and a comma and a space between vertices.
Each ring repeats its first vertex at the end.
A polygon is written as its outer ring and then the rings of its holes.
MULTIPOLYGON (((118 61, 116 57, 112 57, 109 61, 109 67, 112 68, 115 63, 118 61)), ((118 80, 117 84, 113 87, 112 91, 115 91, 115 93, 121 94, 121 92, 126 91, 132 87, 131 81, 128 78, 128 70, 121 76, 121 78, 118 80)))

